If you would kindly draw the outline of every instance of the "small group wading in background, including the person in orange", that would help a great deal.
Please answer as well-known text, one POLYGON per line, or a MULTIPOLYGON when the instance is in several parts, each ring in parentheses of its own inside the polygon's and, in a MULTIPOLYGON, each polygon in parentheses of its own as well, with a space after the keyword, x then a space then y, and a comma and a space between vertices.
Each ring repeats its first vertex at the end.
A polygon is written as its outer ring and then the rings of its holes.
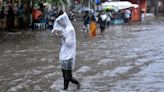
POLYGON ((86 14, 83 17, 84 23, 83 23, 83 31, 88 32, 89 36, 95 37, 96 36, 96 29, 97 24, 99 24, 100 27, 100 35, 104 36, 105 28, 110 25, 110 19, 111 18, 111 12, 100 12, 98 16, 95 16, 94 14, 90 14, 89 12, 86 12, 86 14), (96 19, 98 17, 98 19, 96 19))

